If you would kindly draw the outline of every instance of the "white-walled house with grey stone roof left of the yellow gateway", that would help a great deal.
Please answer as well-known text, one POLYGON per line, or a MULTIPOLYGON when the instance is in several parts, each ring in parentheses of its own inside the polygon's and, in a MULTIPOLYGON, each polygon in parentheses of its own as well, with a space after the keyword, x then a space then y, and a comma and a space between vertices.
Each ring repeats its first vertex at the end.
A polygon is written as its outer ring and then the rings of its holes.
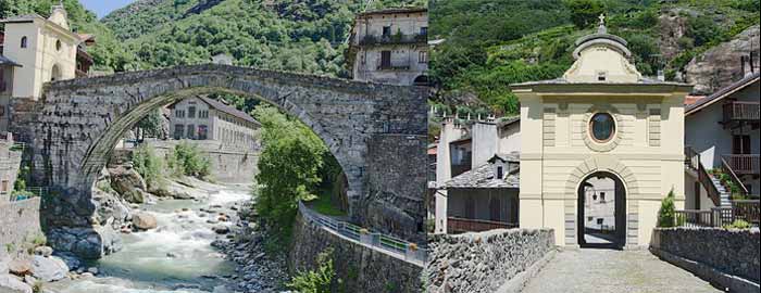
POLYGON ((517 226, 521 120, 446 118, 437 146, 435 231, 517 226))

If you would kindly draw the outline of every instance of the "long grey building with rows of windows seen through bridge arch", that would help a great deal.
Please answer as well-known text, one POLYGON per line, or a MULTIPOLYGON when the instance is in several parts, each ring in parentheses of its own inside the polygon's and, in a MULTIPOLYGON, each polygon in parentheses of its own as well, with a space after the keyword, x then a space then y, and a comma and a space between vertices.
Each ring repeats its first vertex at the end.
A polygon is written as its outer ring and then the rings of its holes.
POLYGON ((170 109, 170 136, 175 140, 215 140, 225 148, 259 148, 261 124, 233 106, 207 97, 175 102, 170 109))

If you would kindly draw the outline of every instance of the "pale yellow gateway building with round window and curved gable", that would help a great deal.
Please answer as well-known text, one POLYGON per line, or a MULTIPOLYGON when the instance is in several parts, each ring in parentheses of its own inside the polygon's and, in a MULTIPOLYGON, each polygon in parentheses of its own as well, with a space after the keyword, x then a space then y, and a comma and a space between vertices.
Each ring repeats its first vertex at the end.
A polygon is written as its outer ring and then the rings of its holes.
POLYGON ((576 41, 561 78, 511 85, 521 102, 519 222, 554 229, 558 245, 646 246, 671 190, 684 207, 691 86, 644 78, 602 18, 597 34, 576 41), (595 227, 585 194, 601 180, 611 186, 614 225, 595 227))

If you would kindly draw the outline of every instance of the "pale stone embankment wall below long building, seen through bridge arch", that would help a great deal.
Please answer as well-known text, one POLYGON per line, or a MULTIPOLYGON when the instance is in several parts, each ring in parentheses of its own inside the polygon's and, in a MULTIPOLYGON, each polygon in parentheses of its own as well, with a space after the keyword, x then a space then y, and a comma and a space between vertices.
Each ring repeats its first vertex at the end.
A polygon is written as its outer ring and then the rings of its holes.
MULTIPOLYGON (((215 181, 224 183, 251 183, 253 176, 259 173, 260 150, 242 150, 225 148, 214 140, 186 140, 208 154, 211 162, 211 174, 215 181)), ((157 150, 157 154, 166 155, 179 143, 178 140, 148 141, 157 150)))

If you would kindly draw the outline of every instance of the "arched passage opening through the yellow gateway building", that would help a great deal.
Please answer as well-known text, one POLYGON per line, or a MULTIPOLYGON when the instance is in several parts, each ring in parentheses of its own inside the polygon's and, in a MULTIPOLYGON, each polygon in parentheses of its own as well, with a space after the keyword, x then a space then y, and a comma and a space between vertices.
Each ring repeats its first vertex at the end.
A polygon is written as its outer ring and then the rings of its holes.
POLYGON ((622 249, 626 243, 626 188, 615 175, 599 171, 578 187, 577 239, 582 247, 622 249))

